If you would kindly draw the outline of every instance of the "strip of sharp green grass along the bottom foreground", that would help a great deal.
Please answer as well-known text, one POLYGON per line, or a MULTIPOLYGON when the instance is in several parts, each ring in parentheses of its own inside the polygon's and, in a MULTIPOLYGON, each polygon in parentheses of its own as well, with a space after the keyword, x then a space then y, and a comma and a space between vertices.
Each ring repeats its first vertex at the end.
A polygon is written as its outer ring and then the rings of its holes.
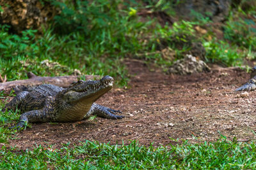
POLYGON ((2 146, 2 169, 254 169, 256 145, 221 138, 215 143, 141 146, 84 141, 60 150, 36 146, 17 150, 2 146))

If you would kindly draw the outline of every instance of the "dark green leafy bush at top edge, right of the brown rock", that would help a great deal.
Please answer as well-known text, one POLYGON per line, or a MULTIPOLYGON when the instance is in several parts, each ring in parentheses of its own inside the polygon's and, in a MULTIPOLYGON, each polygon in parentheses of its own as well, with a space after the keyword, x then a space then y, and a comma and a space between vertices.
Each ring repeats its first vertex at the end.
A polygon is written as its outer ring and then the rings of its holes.
POLYGON ((83 32, 90 35, 89 31, 95 27, 105 27, 113 22, 116 15, 116 4, 120 1, 74 1, 73 3, 62 3, 52 0, 51 3, 61 10, 60 15, 54 17, 54 30, 61 34, 72 32, 83 32), (114 13, 113 13, 114 11, 114 13))

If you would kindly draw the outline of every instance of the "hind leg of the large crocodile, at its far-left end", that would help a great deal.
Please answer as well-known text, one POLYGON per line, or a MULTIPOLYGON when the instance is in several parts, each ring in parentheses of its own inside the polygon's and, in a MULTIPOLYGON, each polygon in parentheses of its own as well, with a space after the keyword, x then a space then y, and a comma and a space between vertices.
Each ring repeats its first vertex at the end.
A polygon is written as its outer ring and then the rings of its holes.
POLYGON ((28 95, 28 91, 22 91, 20 92, 18 95, 16 95, 16 97, 13 98, 13 100, 11 100, 10 103, 6 104, 4 106, 4 108, 1 110, 2 112, 5 111, 15 111, 16 107, 19 108, 20 104, 22 103, 22 100, 24 100, 24 98, 26 97, 26 95, 28 95))

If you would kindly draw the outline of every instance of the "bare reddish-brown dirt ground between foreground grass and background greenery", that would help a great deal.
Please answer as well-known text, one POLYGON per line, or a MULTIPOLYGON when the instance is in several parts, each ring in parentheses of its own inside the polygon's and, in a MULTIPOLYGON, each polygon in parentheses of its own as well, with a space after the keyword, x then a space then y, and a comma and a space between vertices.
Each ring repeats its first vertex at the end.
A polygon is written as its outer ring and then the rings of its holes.
POLYGON ((238 141, 255 139, 256 92, 233 93, 250 79, 239 69, 213 68, 210 73, 165 75, 138 61, 125 61, 131 74, 127 89, 115 88, 97 103, 122 111, 122 120, 95 118, 79 123, 37 123, 13 135, 10 146, 100 143, 164 146, 188 139, 216 141, 220 134, 238 141))

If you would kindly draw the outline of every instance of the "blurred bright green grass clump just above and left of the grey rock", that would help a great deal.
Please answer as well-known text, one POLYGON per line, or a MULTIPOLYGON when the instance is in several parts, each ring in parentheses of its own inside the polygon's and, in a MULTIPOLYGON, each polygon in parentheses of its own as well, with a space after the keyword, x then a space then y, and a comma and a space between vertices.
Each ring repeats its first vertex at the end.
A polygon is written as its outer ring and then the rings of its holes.
MULTIPOLYGON (((180 21, 174 22, 172 28, 168 25, 162 27, 156 24, 146 32, 149 38, 143 40, 142 51, 136 57, 146 61, 154 61, 157 65, 170 66, 173 59, 183 58, 184 52, 188 52, 191 44, 198 39, 193 29, 194 22, 180 21), (163 51, 172 50, 172 56, 164 57, 163 51)), ((144 35, 145 36, 145 35, 144 35)), ((147 36, 146 36, 147 37, 147 36)))

